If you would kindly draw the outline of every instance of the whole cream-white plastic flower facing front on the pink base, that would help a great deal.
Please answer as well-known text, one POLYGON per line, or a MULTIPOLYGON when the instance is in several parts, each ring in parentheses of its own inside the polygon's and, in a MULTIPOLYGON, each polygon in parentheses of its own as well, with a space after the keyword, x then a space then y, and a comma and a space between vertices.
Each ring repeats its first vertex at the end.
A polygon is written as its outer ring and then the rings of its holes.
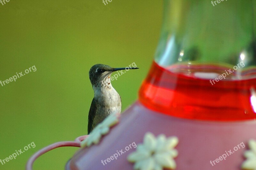
POLYGON ((174 147, 179 140, 176 136, 166 138, 164 134, 155 137, 147 132, 143 144, 138 144, 137 150, 128 155, 130 162, 135 162, 134 169, 161 170, 163 168, 175 169, 176 163, 173 158, 178 156, 174 147))

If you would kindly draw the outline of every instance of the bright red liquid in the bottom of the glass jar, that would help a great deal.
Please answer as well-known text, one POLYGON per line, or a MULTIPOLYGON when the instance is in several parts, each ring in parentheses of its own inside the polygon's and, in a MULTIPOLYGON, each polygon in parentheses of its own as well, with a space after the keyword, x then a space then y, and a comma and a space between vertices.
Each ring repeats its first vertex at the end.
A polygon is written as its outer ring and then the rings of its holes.
MULTIPOLYGON (((229 68, 207 66, 171 66, 168 69, 153 61, 140 91, 139 101, 151 110, 175 117, 197 120, 250 120, 256 119, 256 89, 254 70, 240 73, 241 80, 233 80, 237 72, 226 79, 210 83, 197 73, 221 75, 229 68)), ((217 76, 216 76, 217 77, 217 76)))

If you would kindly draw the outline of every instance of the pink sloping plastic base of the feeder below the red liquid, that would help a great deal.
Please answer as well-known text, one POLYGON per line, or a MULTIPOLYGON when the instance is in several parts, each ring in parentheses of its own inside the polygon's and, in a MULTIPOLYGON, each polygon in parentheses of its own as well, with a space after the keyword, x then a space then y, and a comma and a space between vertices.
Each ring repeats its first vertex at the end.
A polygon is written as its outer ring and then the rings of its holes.
POLYGON ((67 170, 85 169, 133 169, 133 163, 127 161, 127 156, 136 148, 129 149, 117 159, 101 163, 121 149, 135 142, 142 143, 146 132, 155 136, 177 136, 179 143, 176 149, 179 155, 174 160, 177 170, 198 169, 240 169, 245 160, 243 154, 248 150, 248 140, 256 139, 256 121, 214 122, 180 119, 167 116, 145 108, 140 102, 134 103, 121 114, 120 122, 110 132, 103 136, 101 142, 89 148, 80 149, 67 164, 67 170), (221 160, 212 166, 210 161, 219 158, 234 147, 244 143, 245 147, 238 149, 226 160, 221 160))

